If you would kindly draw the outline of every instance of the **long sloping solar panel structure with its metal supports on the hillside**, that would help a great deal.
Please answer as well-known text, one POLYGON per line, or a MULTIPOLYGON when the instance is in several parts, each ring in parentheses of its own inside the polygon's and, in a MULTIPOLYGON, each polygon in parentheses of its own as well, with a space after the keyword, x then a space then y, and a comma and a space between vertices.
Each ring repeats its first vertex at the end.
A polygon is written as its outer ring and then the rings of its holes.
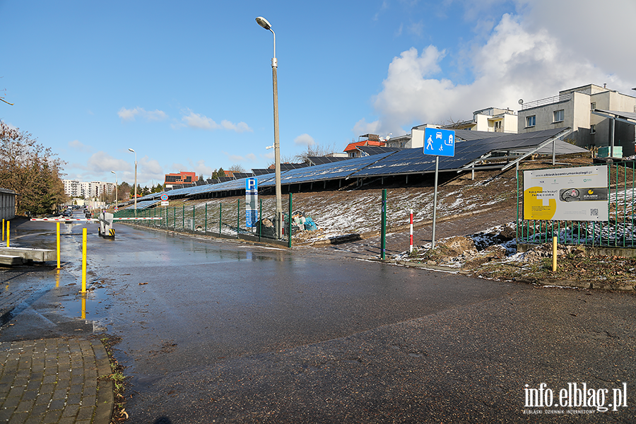
MULTIPOLYGON (((550 151, 563 153, 581 153, 585 149, 572 146, 558 138, 569 134, 570 129, 549 129, 524 134, 477 133, 476 131, 456 131, 461 140, 455 145, 454 157, 440 157, 440 172, 466 170, 476 166, 476 169, 503 169, 514 165, 518 160, 532 153, 548 154, 550 151), (472 134, 468 134, 472 133, 472 134), (483 138, 483 134, 488 137, 483 138), (474 136, 481 136, 475 138, 474 136), (495 157, 495 155, 500 157, 495 157), (499 163, 488 163, 498 160, 499 163), (512 162, 511 162, 512 161, 512 162)), ((423 148, 391 149, 382 153, 350 158, 334 163, 298 167, 298 164, 286 164, 288 170, 281 171, 281 184, 305 184, 313 182, 333 181, 341 184, 346 179, 364 179, 368 177, 384 177, 391 175, 422 175, 435 171, 435 156, 424 155, 423 148)), ((259 188, 271 189, 276 185, 273 173, 257 175, 259 188)), ((408 178, 408 177, 407 177, 408 178)), ((170 199, 208 198, 230 196, 245 192, 245 178, 232 179, 218 184, 206 184, 196 187, 185 187, 166 192, 170 199)), ((143 196, 139 201, 158 199, 161 193, 143 196)), ((139 205, 138 201, 138 205, 139 205)))

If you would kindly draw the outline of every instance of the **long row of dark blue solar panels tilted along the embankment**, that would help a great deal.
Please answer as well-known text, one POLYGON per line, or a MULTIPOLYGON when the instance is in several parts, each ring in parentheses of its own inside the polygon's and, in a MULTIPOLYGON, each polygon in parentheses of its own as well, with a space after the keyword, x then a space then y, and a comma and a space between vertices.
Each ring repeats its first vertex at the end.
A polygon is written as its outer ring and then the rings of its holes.
MULTIPOLYGON (((440 170, 459 170, 469 165, 473 160, 478 160, 486 153, 507 151, 529 151, 539 144, 552 139, 564 129, 548 129, 534 131, 525 134, 483 133, 480 131, 457 130, 457 138, 465 141, 457 141, 455 155, 453 157, 440 156, 440 170), (487 138, 474 138, 488 134, 487 138)), ((569 143, 557 141, 559 153, 573 153, 584 151, 569 143), (567 146, 565 146, 567 145, 567 146)), ((370 146, 365 146, 369 148, 370 146)), ((281 164, 281 184, 302 184, 305 182, 326 181, 329 179, 346 179, 357 177, 380 177, 384 175, 408 175, 435 170, 435 156, 424 155, 423 148, 372 148, 375 152, 363 158, 330 158, 320 165, 308 166, 306 163, 281 164), (331 159, 338 159, 332 162, 331 159), (345 160, 346 159, 346 160, 345 160)), ((549 148, 551 151, 551 147, 549 148)), ((317 159, 318 160, 318 159, 317 159)), ((312 158, 313 162, 313 158, 312 158)), ((315 162, 314 162, 315 163, 315 162)), ((259 187, 273 187, 276 177, 273 170, 259 175, 259 170, 252 170, 258 179, 259 187)), ((217 184, 206 184, 197 187, 184 187, 167 192, 170 196, 199 196, 213 192, 230 192, 245 190, 245 178, 227 179, 217 184)), ((141 201, 158 199, 161 193, 143 196, 141 201)), ((156 201, 154 201, 156 203, 156 201)), ((138 201, 139 205, 143 202, 138 201)), ((147 207, 147 206, 146 206, 147 207)))

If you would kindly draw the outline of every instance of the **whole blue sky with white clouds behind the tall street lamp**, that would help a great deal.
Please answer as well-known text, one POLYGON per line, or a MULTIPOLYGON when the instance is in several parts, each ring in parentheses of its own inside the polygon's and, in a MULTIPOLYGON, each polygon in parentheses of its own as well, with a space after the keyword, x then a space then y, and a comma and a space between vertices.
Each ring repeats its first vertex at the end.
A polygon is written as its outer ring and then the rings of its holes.
POLYGON ((636 2, 7 1, 0 119, 65 178, 139 183, 273 163, 588 83, 636 87, 636 2))

